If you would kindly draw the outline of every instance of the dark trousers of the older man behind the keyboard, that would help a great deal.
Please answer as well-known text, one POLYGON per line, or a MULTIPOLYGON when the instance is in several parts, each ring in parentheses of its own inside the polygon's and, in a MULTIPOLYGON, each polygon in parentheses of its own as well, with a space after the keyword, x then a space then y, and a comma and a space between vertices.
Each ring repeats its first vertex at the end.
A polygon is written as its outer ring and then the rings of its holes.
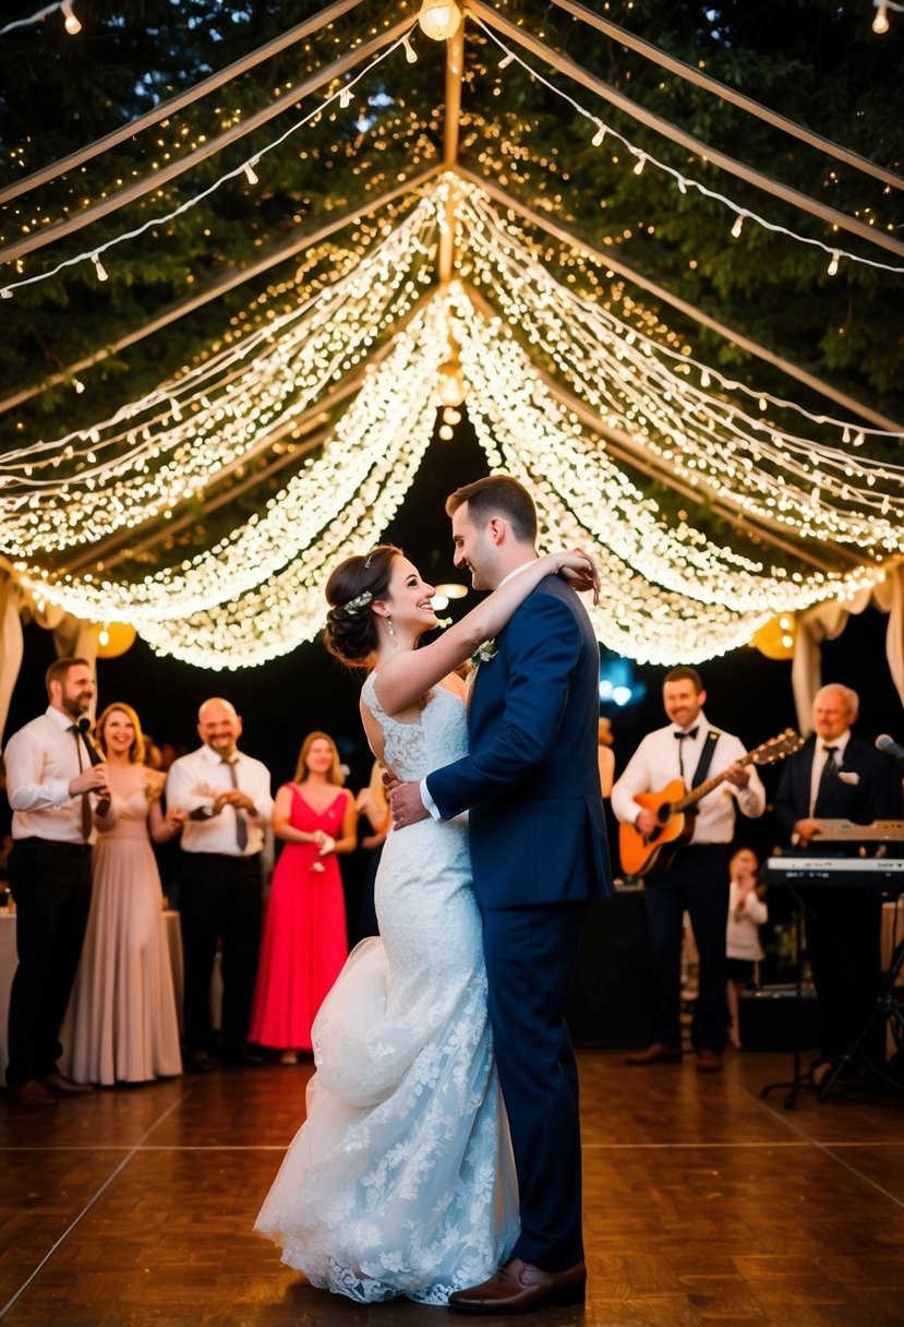
MULTIPOLYGON (((876 1013, 881 990, 881 898, 874 890, 803 888, 807 957, 822 1019, 822 1058, 843 1055, 876 1013)), ((860 1051, 885 1062, 885 1023, 876 1018, 860 1051)))

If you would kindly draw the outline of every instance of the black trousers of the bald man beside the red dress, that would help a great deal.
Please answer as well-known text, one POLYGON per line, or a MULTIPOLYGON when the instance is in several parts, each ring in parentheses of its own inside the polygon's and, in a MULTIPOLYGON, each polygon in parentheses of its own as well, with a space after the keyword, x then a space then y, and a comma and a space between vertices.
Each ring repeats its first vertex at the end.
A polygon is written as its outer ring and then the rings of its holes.
POLYGON ((223 941, 223 1051, 248 1040, 261 938, 261 859, 183 852, 179 920, 186 965, 186 1050, 211 1051, 211 975, 223 941))

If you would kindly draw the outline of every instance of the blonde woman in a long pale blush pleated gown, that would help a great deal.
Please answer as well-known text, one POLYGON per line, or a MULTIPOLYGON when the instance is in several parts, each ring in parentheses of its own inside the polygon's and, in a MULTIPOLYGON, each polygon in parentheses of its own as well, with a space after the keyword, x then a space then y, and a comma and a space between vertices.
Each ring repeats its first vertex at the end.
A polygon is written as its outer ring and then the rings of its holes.
POLYGON ((72 994, 72 1074, 105 1087, 182 1072, 163 893, 151 847, 174 839, 184 811, 160 808, 164 776, 144 763, 130 705, 97 721, 110 802, 95 812, 94 889, 72 994))

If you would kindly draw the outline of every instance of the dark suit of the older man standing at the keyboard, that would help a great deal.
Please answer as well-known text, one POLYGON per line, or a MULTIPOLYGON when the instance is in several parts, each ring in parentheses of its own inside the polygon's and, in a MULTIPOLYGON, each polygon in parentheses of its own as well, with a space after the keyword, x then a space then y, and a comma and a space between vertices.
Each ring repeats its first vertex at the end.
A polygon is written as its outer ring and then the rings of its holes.
MULTIPOLYGON (((831 742, 826 743, 831 746, 831 742)), ((810 776, 817 739, 785 762, 775 792, 774 812, 786 840, 798 820, 810 815, 810 776)), ((900 778, 891 756, 851 735, 838 774, 823 779, 813 815, 817 820, 852 820, 871 824, 900 815, 900 778), (856 783, 839 775, 856 775, 856 783)), ((810 852, 819 853, 819 837, 810 852)), ((880 993, 879 942, 881 900, 874 890, 832 886, 799 890, 806 910, 807 954, 822 1014, 822 1058, 843 1055, 875 1013, 880 993)), ((876 1063, 884 1060, 884 1027, 863 1046, 876 1063)))

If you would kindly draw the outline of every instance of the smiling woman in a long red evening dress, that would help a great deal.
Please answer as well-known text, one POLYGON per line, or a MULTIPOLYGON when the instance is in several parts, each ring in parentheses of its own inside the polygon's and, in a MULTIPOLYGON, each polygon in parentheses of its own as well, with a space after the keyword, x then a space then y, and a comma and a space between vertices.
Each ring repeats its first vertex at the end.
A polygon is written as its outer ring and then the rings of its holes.
POLYGON ((349 957, 338 853, 357 840, 355 799, 342 787, 339 754, 326 733, 301 744, 293 783, 273 809, 285 843, 273 872, 251 1019, 251 1040, 297 1064, 310 1027, 349 957))

